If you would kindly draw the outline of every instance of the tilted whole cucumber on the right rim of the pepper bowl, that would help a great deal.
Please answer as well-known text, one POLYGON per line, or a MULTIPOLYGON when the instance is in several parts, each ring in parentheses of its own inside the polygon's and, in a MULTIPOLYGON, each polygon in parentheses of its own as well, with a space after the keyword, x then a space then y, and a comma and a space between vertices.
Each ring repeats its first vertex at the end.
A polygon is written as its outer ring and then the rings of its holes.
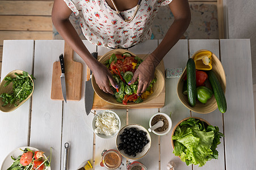
POLYGON ((223 88, 221 87, 220 82, 217 79, 217 76, 212 70, 208 71, 207 74, 208 74, 209 82, 212 86, 213 94, 217 101, 219 111, 221 113, 225 113, 227 105, 226 105, 226 97, 225 97, 223 88))

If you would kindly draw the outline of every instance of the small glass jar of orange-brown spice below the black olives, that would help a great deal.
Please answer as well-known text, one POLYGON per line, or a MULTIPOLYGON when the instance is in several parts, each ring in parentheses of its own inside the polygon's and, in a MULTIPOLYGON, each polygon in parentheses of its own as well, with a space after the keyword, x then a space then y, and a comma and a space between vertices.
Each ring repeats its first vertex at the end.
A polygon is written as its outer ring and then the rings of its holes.
POLYGON ((102 156, 102 162, 100 166, 107 169, 117 169, 120 167, 122 162, 121 154, 116 150, 107 150, 102 156))

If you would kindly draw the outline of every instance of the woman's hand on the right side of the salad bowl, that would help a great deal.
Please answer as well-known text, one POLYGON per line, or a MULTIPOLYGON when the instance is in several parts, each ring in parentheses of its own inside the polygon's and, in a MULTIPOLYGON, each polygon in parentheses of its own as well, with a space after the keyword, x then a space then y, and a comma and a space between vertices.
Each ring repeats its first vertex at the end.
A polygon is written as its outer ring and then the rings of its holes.
POLYGON ((156 70, 156 66, 160 61, 152 54, 148 56, 148 58, 143 61, 140 66, 135 71, 131 83, 136 82, 137 78, 139 77, 139 85, 137 90, 137 95, 141 95, 143 92, 146 91, 146 88, 149 87, 149 84, 154 79, 154 72, 156 70))

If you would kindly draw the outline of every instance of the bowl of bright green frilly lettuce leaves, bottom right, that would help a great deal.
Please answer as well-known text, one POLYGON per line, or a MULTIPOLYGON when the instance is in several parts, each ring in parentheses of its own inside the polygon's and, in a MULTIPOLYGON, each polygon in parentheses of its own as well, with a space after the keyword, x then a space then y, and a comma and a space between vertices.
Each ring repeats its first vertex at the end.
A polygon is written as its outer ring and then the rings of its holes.
POLYGON ((220 138, 224 137, 217 126, 210 125, 203 118, 187 117, 179 121, 171 134, 173 153, 187 165, 202 167, 208 160, 218 159, 216 150, 220 138))

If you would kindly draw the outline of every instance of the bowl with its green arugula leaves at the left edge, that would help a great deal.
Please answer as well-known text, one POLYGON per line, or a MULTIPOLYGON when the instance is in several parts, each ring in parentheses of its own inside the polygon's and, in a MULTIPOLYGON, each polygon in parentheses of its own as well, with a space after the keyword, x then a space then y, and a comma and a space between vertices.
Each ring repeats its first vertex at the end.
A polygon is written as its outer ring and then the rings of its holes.
POLYGON ((33 94, 35 79, 26 71, 14 70, 0 84, 0 110, 12 112, 25 103, 33 94))

